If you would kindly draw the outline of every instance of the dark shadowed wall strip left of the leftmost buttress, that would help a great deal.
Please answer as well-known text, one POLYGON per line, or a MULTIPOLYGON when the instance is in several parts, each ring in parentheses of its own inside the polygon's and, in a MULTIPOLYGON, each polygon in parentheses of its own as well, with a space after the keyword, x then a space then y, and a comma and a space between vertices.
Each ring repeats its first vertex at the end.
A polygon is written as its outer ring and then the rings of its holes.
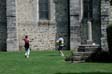
POLYGON ((0 0, 0 51, 6 51, 7 19, 6 0, 0 0))

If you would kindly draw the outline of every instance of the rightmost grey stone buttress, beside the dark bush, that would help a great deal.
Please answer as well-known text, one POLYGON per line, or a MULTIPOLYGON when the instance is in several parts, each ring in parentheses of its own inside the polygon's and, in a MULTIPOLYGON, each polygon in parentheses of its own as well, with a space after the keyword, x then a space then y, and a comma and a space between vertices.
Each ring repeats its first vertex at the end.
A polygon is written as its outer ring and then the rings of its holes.
POLYGON ((107 26, 109 25, 109 0, 101 0, 101 48, 108 51, 107 44, 107 26))

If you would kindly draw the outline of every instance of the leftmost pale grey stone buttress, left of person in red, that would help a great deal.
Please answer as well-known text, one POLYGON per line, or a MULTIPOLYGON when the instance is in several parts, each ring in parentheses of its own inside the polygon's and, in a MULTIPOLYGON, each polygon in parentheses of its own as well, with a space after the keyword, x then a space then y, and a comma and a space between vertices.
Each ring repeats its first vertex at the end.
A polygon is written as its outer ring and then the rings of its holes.
POLYGON ((16 0, 6 0, 7 4, 7 51, 17 51, 18 36, 16 26, 16 0))

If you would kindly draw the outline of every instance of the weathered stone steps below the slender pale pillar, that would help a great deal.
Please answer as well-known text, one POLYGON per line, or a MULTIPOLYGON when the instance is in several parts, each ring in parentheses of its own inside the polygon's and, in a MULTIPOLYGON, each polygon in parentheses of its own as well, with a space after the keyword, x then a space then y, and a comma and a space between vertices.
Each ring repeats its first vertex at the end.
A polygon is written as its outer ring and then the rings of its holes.
POLYGON ((99 49, 99 45, 83 44, 79 46, 77 52, 72 52, 71 56, 66 58, 66 60, 71 60, 71 62, 82 62, 86 61, 92 53, 99 49))

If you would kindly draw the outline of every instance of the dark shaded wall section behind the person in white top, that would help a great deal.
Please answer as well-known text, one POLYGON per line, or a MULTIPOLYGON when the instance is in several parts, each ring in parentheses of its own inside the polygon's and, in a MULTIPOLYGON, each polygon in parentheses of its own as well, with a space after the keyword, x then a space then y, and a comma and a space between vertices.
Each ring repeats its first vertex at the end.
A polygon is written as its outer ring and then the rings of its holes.
POLYGON ((70 50, 70 31, 69 31, 69 0, 56 0, 56 39, 60 36, 64 38, 65 50, 70 50))

